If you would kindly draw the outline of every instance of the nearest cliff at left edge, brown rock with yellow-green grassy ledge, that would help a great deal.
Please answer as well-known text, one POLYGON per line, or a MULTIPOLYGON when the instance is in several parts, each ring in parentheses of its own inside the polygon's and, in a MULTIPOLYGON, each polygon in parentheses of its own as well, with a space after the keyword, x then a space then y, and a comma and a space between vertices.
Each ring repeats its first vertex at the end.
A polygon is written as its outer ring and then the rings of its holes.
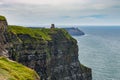
POLYGON ((40 80, 35 71, 8 59, 7 21, 0 16, 0 80, 40 80))

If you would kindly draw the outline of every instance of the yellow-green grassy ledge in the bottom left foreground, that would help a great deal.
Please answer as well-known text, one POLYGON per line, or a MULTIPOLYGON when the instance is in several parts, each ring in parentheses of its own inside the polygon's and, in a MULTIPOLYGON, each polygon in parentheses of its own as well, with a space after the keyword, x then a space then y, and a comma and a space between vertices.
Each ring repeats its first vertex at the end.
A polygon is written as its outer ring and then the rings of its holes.
POLYGON ((32 69, 0 57, 0 80, 39 80, 39 77, 32 69))

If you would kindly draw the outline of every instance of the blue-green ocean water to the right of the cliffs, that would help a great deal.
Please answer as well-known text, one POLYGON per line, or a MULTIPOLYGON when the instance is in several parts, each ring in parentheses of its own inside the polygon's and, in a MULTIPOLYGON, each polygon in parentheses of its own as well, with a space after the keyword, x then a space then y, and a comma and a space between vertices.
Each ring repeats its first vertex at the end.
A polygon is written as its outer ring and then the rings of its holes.
POLYGON ((120 27, 79 27, 79 60, 92 69, 93 80, 120 80, 120 27))

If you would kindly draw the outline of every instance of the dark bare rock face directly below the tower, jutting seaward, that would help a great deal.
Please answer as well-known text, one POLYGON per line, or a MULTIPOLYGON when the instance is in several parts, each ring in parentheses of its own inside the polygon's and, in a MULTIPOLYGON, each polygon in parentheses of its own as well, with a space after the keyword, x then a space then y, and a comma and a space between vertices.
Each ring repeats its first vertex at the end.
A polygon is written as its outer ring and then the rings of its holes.
POLYGON ((63 33, 58 31, 52 35, 52 42, 49 42, 52 56, 50 80, 91 80, 91 70, 78 61, 76 40, 67 38, 63 33))

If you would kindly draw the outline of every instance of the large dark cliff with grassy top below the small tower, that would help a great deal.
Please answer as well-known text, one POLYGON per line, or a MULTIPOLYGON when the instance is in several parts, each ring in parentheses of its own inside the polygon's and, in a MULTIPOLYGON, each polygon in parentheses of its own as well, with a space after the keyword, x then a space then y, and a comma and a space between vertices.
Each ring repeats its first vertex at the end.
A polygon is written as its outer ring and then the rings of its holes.
POLYGON ((78 46, 63 29, 9 26, 9 58, 34 69, 41 80, 92 80, 91 69, 78 61, 78 46))

